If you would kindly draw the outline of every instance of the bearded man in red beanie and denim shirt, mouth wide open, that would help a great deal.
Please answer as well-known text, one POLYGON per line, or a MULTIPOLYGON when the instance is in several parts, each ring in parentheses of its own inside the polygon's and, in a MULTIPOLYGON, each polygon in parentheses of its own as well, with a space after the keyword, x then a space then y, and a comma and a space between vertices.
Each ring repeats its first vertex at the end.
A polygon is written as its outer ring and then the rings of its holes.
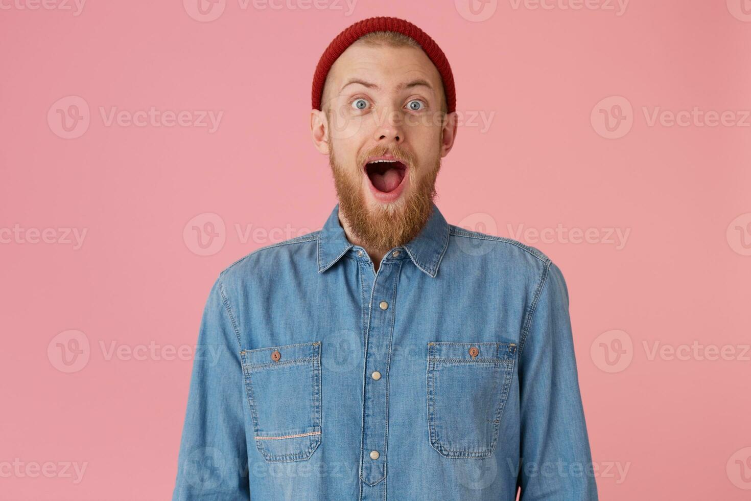
POLYGON ((596 500, 561 271, 434 202, 457 137, 436 42, 349 26, 310 130, 339 203, 219 274, 173 499, 596 500))

